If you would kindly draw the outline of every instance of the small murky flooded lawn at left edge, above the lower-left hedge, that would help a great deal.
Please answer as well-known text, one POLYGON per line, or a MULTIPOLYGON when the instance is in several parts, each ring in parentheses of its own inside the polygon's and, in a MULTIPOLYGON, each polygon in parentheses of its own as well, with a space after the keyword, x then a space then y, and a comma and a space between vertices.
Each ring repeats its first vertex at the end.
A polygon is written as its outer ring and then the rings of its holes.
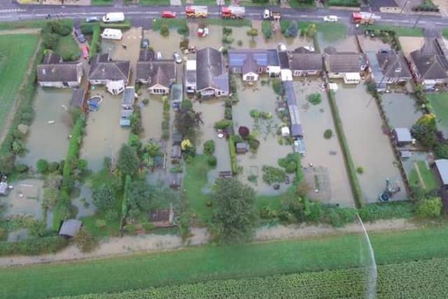
POLYGON ((3 216, 30 215, 37 220, 43 219, 41 200, 43 181, 26 179, 13 183, 14 189, 8 196, 0 197, 4 207, 3 216))

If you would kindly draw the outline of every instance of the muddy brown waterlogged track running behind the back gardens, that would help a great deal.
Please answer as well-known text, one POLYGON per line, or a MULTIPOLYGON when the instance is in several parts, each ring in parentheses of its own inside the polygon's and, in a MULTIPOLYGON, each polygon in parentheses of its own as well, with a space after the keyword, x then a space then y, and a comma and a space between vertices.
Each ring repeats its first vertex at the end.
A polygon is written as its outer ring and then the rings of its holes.
MULTIPOLYGON (((368 232, 384 230, 409 230, 418 228, 406 219, 394 219, 365 223, 368 232)), ((357 223, 346 225, 344 228, 332 228, 329 225, 276 225, 274 227, 260 228, 255 233, 255 241, 271 241, 279 239, 304 239, 322 235, 338 235, 342 233, 362 233, 361 226, 357 223)), ((190 246, 200 246, 209 242, 209 235, 205 228, 193 228, 193 237, 189 241, 190 246)), ((122 238, 111 237, 104 239, 99 248, 90 253, 82 253, 76 246, 71 245, 66 249, 41 256, 8 256, 0 258, 0 267, 12 265, 29 265, 38 263, 55 263, 69 260, 81 260, 89 258, 106 258, 112 256, 128 256, 133 253, 162 251, 179 249, 183 247, 181 238, 176 235, 139 235, 125 236, 122 238)))

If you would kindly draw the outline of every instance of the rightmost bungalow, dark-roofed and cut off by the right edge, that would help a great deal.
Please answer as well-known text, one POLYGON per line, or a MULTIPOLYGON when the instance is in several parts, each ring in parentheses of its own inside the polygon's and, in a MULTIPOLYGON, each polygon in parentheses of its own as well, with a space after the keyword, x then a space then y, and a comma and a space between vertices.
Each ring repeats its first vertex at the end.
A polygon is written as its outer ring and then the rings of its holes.
POLYGON ((448 83, 448 52, 442 39, 425 41, 423 47, 410 53, 409 68, 416 83, 426 90, 448 83))

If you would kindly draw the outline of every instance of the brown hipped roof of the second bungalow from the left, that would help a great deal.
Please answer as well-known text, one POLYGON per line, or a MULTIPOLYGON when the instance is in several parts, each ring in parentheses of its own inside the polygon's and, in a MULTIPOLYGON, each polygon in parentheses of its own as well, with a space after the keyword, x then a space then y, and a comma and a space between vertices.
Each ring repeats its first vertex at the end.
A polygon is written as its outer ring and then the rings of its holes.
POLYGON ((90 64, 90 80, 127 80, 130 74, 130 62, 110 60, 109 54, 97 54, 90 64))

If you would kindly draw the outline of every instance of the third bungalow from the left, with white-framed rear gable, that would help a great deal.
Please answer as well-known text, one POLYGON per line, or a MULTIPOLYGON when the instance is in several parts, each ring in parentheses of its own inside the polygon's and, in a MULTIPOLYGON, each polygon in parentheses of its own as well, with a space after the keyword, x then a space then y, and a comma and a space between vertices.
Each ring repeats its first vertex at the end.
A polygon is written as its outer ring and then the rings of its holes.
POLYGON ((137 62, 137 81, 147 84, 153 95, 167 95, 176 82, 176 64, 174 60, 137 62))

